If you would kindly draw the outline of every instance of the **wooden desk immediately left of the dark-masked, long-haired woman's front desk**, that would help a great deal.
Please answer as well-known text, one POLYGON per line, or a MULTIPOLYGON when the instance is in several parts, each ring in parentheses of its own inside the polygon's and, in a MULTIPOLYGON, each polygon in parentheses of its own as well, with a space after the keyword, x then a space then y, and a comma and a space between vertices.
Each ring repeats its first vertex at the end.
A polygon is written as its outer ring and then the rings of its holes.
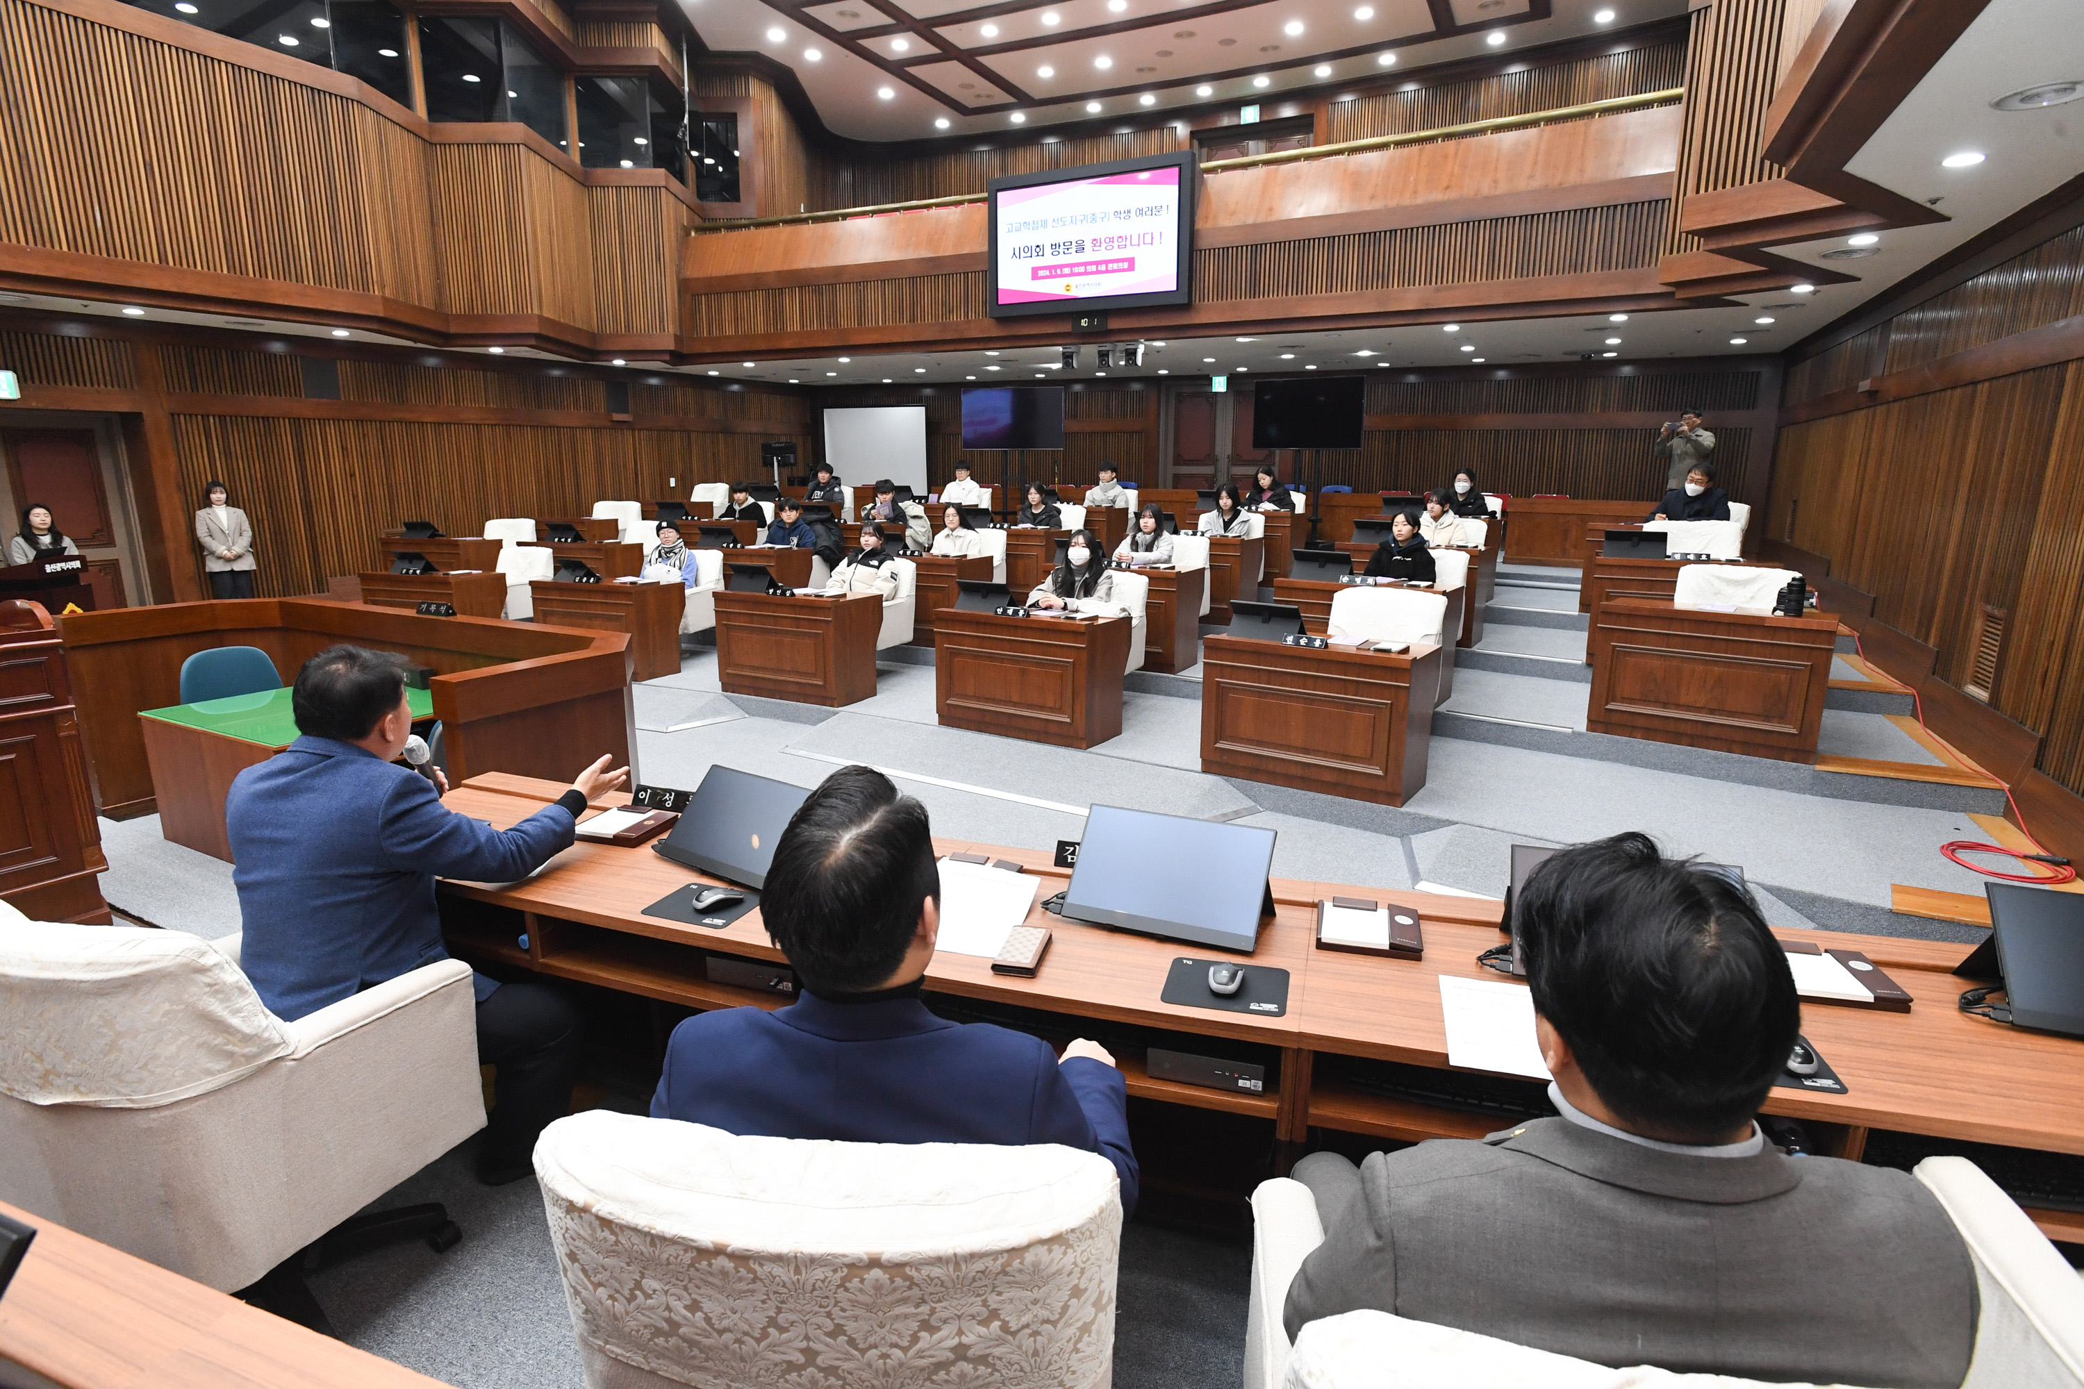
MULTIPOLYGON (((786 550, 775 554, 788 554, 786 550)), ((809 556, 807 550, 796 554, 809 556)), ((717 591, 717 677, 725 693, 857 704, 875 693, 875 594, 777 598, 717 591)))

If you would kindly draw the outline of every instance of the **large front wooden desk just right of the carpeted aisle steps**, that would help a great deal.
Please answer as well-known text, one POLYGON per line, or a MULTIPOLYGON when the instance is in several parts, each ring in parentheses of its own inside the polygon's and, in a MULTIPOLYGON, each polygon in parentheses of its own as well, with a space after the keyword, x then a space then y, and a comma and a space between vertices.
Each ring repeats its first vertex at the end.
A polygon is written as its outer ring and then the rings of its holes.
POLYGON ((1836 612, 1755 616, 1611 598, 1586 643, 1586 729, 1815 762, 1836 646, 1836 612))

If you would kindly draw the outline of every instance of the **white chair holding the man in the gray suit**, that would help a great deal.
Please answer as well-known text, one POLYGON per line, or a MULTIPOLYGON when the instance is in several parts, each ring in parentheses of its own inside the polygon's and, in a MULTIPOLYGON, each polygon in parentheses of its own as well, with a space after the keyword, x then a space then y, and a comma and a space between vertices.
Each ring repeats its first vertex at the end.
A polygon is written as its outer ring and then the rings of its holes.
MULTIPOLYGON (((1976 1349, 1961 1389, 2084 1389, 2084 1281, 2024 1210, 1967 1158, 1926 1158, 1917 1181, 1953 1218, 1976 1264, 1976 1349)), ((1757 1381, 1607 1368, 1471 1331, 1388 1312, 1346 1312, 1302 1329, 1282 1327, 1288 1285, 1323 1241, 1317 1202, 1275 1177, 1252 1191, 1252 1285, 1244 1331, 1244 1389, 1361 1389, 1398 1368, 1409 1389, 1744 1389, 1757 1381)), ((1796 1389, 1796 1387, 1782 1387, 1796 1389)))

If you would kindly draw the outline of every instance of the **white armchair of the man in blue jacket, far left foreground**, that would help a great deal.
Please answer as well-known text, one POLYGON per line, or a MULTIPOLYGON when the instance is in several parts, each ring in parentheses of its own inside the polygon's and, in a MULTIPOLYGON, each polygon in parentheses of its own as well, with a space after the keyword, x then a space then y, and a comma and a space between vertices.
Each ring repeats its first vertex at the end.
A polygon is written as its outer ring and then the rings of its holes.
POLYGON ((0 1199, 231 1291, 483 1129, 467 964, 283 1022, 238 948, 0 906, 0 1199))

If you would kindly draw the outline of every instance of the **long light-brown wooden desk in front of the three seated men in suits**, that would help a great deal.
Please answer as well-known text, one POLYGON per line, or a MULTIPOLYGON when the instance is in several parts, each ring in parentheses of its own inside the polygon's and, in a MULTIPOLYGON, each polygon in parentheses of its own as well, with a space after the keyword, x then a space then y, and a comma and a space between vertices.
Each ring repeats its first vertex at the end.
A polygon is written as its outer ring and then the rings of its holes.
MULTIPOLYGON (((494 775, 450 791, 448 806, 506 827, 561 791, 563 785, 494 775)), ((1282 1166, 1311 1129, 1417 1141, 1482 1137, 1500 1127, 1494 1118, 1371 1089, 1396 1075, 1394 1066, 1419 1075, 1450 1068, 1438 979, 1503 979, 1475 962, 1482 950, 1505 939, 1494 900, 1275 879, 1275 914, 1261 931, 1259 950, 1240 962, 1248 970, 1288 970, 1288 1008, 1282 1016, 1255 1016, 1161 1002, 1175 958, 1215 952, 1046 914, 1040 902, 1069 877, 1050 866, 1048 852, 961 837, 938 837, 934 848, 1013 860, 1040 877, 1038 906, 1027 923, 1050 927, 1055 939, 1034 979, 994 975, 990 960, 938 952, 925 977, 929 1006, 942 1000, 954 1008, 1034 1010, 1046 1018, 1038 1031, 1052 1041, 1098 1033, 1115 1052, 1132 1097, 1263 1118, 1284 1145, 1282 1166), (1425 956, 1390 960, 1317 950, 1317 902, 1334 895, 1417 910, 1425 956), (1144 1045, 1259 1060, 1269 1066, 1269 1079, 1263 1093, 1157 1079, 1148 1072, 1144 1045)), ((709 979, 711 958, 784 962, 759 912, 715 931, 644 914, 646 906, 694 881, 713 879, 648 848, 581 841, 521 883, 444 881, 442 923, 452 952, 494 973, 531 970, 696 1010, 786 1006, 786 995, 709 979)), ((1844 1079, 1846 1093, 1776 1087, 1765 1102, 1769 1114, 1815 1125, 1826 1150, 1849 1158, 1859 1158, 1869 1129, 2084 1154, 2084 1041, 1959 1012, 1961 985, 1949 970, 1965 948, 1824 931, 1776 935, 1861 950, 1915 1004, 1909 1012, 1805 1004, 1803 1033, 1844 1079)), ((2036 1212, 2036 1218, 2051 1233, 2067 1231, 2065 1239, 2084 1237, 2080 1216, 2036 1212)))

